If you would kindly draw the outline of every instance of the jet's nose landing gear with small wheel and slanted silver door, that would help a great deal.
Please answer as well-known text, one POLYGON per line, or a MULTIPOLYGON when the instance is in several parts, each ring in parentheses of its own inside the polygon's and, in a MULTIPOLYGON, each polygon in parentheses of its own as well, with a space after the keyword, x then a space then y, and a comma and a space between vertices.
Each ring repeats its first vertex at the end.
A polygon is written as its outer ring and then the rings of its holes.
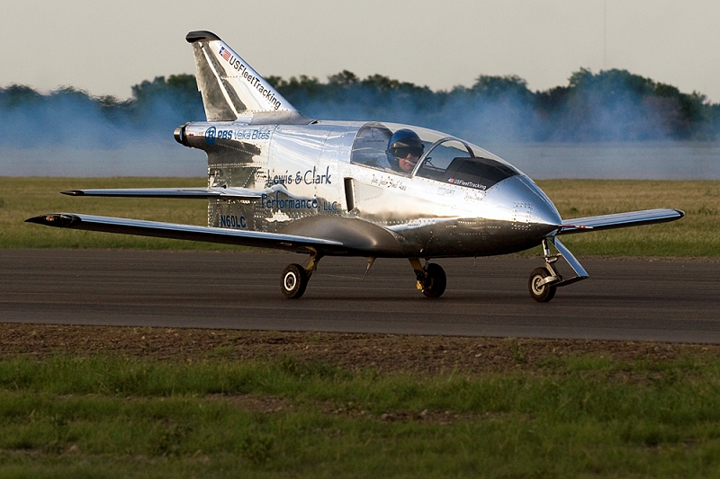
POLYGON ((582 268, 580 262, 578 262, 572 253, 562 244, 560 240, 551 238, 550 241, 557 248, 557 254, 550 253, 550 245, 548 244, 548 238, 543 240, 543 258, 545 259, 545 266, 542 268, 536 268, 530 273, 530 279, 527 281, 527 289, 530 290, 530 297, 535 299, 538 303, 547 303, 555 297, 555 291, 560 286, 566 286, 572 284, 581 279, 588 278, 588 273, 582 268), (570 265, 576 276, 563 279, 563 276, 558 273, 553 265, 558 259, 564 258, 570 265))

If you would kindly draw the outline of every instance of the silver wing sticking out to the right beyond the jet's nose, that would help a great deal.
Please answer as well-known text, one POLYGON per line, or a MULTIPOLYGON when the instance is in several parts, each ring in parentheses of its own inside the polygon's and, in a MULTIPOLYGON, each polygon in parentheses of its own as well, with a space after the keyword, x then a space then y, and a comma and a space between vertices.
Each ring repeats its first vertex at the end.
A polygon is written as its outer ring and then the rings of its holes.
POLYGON ((601 229, 652 225, 653 223, 675 221, 684 216, 685 213, 680 209, 659 208, 616 213, 614 215, 601 215, 599 217, 577 217, 563 220, 563 225, 560 226, 557 234, 571 235, 572 233, 599 231, 601 229))

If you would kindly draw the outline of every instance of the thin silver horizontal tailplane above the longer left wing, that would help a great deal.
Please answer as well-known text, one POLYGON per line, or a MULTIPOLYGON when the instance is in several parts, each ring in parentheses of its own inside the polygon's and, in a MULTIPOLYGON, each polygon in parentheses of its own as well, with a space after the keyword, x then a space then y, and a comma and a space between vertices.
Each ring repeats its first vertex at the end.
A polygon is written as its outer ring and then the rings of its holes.
POLYGON ((113 196, 125 198, 180 198, 180 199, 211 199, 237 198, 257 200, 267 191, 250 190, 249 188, 131 188, 103 190, 70 190, 62 191, 69 196, 113 196))

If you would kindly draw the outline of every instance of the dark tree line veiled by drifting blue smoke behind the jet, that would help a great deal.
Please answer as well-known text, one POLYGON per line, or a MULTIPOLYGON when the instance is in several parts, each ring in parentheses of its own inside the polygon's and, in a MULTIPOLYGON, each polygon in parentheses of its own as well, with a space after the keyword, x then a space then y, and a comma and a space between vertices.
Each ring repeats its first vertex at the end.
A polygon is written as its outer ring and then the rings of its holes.
MULTIPOLYGON (((593 73, 581 68, 567 85, 537 92, 518 75, 480 75, 470 87, 440 91, 384 75, 362 79, 347 70, 327 81, 306 75, 266 79, 311 118, 410 123, 477 142, 707 141, 720 136, 720 104, 619 69, 593 73)), ((82 144, 83 135, 99 135, 112 145, 113 132, 120 129, 130 137, 166 137, 185 121, 204 119, 193 75, 158 76, 131 91, 131 98, 122 101, 71 87, 48 94, 25 85, 0 88, 6 132, 1 141, 22 141, 23 131, 40 129, 46 141, 71 137, 82 144)))

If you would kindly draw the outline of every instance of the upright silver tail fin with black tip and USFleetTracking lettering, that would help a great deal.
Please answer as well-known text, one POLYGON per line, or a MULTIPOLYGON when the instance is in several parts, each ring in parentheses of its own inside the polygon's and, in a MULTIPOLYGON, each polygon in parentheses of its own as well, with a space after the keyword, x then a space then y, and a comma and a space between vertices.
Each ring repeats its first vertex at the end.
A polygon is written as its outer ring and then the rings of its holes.
POLYGON ((250 121, 262 112, 280 113, 286 120, 302 117, 214 33, 191 31, 185 40, 193 44, 197 85, 208 121, 250 121))

